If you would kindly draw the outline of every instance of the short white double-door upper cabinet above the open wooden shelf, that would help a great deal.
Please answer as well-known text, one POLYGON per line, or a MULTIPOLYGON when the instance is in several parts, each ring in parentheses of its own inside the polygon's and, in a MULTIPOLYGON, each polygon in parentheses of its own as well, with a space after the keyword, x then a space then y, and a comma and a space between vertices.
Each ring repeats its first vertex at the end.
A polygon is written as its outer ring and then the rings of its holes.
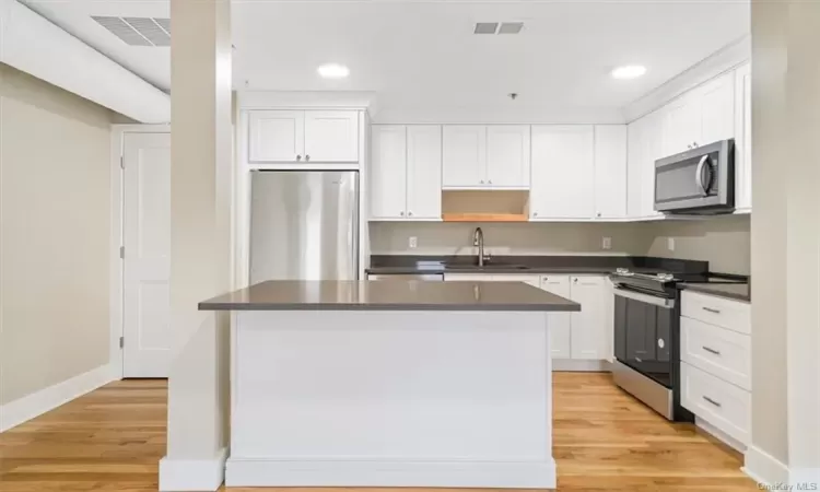
POLYGON ((529 126, 445 125, 445 189, 522 189, 529 186, 529 126))

